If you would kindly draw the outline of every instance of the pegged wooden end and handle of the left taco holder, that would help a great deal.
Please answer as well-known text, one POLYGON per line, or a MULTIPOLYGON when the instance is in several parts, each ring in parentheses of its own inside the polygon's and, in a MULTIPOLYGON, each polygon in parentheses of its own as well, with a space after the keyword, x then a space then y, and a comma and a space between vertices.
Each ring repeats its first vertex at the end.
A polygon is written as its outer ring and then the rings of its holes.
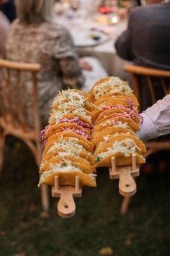
POLYGON ((75 177, 75 187, 59 186, 58 176, 54 178, 54 186, 52 187, 52 196, 60 197, 58 201, 58 215, 63 218, 70 218, 76 212, 76 205, 73 197, 81 197, 82 187, 80 187, 79 176, 75 177))

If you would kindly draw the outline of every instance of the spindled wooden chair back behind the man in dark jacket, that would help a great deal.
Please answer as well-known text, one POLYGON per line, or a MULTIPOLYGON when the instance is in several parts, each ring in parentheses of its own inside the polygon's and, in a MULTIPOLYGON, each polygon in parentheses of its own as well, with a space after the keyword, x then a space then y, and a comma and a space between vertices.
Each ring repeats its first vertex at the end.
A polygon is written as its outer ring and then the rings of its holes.
POLYGON ((134 93, 138 98, 140 106, 142 105, 141 90, 143 86, 140 84, 140 77, 145 77, 145 82, 148 86, 147 93, 151 95, 151 105, 158 100, 156 95, 156 81, 161 86, 161 91, 163 92, 162 96, 160 95, 161 98, 169 93, 170 82, 167 82, 167 79, 170 78, 170 71, 140 67, 134 64, 125 64, 124 70, 131 74, 134 93))

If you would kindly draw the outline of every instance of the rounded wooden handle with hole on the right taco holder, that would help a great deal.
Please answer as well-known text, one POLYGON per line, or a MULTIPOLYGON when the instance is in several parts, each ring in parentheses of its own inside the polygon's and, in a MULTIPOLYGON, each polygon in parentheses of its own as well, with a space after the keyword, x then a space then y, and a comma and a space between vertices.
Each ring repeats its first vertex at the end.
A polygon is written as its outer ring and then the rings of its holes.
POLYGON ((126 171, 120 171, 119 191, 123 196, 132 196, 136 192, 135 180, 126 171))

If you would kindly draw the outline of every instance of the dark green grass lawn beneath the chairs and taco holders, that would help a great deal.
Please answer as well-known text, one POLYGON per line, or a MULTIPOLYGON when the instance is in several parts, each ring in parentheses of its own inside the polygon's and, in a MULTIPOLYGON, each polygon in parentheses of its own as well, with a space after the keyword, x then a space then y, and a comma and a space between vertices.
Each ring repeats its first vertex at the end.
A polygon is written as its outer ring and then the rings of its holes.
POLYGON ((118 182, 107 170, 98 171, 97 189, 84 188, 76 215, 63 219, 52 197, 49 214, 42 213, 29 150, 13 139, 7 145, 0 179, 1 256, 97 256, 102 247, 111 247, 115 256, 170 255, 168 176, 140 175, 128 213, 120 215, 118 182))

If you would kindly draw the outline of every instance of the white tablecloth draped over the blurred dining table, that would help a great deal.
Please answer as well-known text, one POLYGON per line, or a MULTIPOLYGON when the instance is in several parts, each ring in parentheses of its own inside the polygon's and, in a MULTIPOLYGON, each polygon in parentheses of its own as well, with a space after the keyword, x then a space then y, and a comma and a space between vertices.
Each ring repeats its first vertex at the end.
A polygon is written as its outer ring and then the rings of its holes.
POLYGON ((77 46, 79 54, 80 56, 97 56, 102 61, 102 64, 105 69, 107 69, 109 75, 119 76, 123 80, 129 79, 129 75, 123 71, 123 66, 128 61, 120 59, 115 50, 115 40, 122 31, 126 29, 128 23, 127 20, 122 20, 116 25, 104 25, 95 22, 92 17, 81 20, 79 17, 68 19, 68 17, 64 15, 55 15, 54 22, 59 22, 68 28, 71 35, 73 35, 73 40, 76 46, 79 45, 77 38, 79 38, 82 31, 94 28, 107 33, 108 39, 105 40, 104 43, 96 46, 77 46))

